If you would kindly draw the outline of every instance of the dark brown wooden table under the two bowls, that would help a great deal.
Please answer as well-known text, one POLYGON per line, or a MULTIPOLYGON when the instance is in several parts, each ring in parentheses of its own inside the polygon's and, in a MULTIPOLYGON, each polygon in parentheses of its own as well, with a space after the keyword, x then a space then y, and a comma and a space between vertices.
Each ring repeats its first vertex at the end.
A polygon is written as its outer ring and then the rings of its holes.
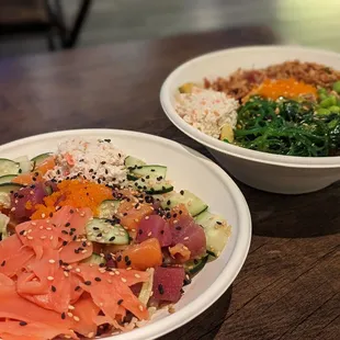
MULTIPOLYGON (((101 46, 0 61, 0 143, 68 128, 180 133, 159 88, 180 63, 213 49, 271 44, 265 27, 101 46)), ((252 215, 250 252, 233 286, 163 340, 340 339, 340 185, 283 196, 240 184, 252 215)))

